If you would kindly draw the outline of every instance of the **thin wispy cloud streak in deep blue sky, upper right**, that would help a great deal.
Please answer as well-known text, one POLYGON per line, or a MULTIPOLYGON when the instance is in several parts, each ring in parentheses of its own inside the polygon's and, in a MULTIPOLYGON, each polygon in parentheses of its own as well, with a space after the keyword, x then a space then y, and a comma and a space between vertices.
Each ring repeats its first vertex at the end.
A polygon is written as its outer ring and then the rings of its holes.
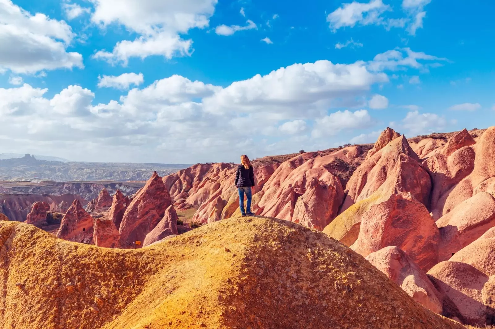
POLYGON ((396 48, 378 54, 372 61, 368 62, 371 71, 403 70, 406 68, 424 69, 427 65, 436 67, 440 62, 447 61, 446 58, 427 55, 424 52, 415 52, 410 48, 396 48), (423 62, 429 61, 427 64, 423 62))

